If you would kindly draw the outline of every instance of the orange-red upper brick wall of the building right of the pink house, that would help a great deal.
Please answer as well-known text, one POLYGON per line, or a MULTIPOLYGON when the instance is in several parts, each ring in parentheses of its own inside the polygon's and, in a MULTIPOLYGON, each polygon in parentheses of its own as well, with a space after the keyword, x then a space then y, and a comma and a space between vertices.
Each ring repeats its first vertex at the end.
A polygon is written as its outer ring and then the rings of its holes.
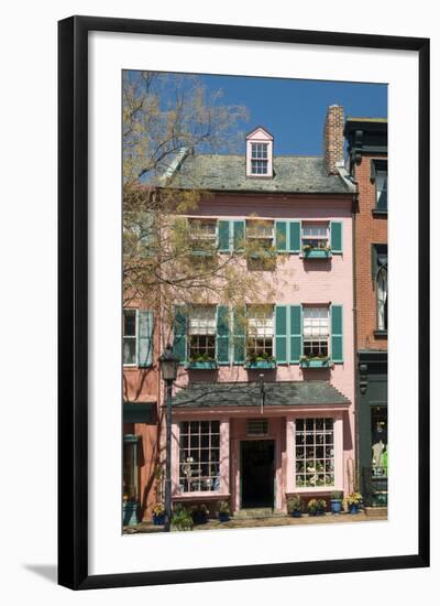
MULTIPOLYGON (((386 337, 376 337, 376 291, 372 280, 371 245, 387 242, 387 216, 373 216, 376 205, 375 184, 370 181, 370 161, 374 155, 362 155, 355 166, 359 184, 359 213, 355 217, 358 348, 386 349, 386 337)), ((383 156, 382 156, 383 158, 383 156)))

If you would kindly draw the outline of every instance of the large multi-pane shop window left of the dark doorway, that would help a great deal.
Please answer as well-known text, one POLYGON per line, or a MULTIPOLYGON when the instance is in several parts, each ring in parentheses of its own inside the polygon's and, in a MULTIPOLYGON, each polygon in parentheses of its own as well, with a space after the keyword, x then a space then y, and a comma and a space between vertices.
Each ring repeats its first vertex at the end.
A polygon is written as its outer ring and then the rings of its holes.
POLYGON ((184 421, 179 437, 183 493, 220 489, 220 421, 184 421))

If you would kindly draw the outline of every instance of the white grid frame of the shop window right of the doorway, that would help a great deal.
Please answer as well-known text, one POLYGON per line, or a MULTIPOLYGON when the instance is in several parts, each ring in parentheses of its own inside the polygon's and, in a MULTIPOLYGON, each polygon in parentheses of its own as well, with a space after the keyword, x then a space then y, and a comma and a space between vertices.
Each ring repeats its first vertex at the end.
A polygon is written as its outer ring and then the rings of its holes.
POLYGON ((332 418, 332 416, 304 416, 304 418, 298 418, 298 419, 295 420, 295 430, 294 430, 294 486, 295 486, 295 490, 304 491, 304 493, 309 493, 311 490, 326 491, 326 490, 329 490, 329 489, 334 489, 336 486, 338 485, 338 477, 337 477, 337 465, 338 465, 337 423, 338 423, 338 420, 336 418, 332 418), (314 421, 314 429, 312 430, 307 430, 306 429, 307 421, 310 421, 310 420, 314 421), (327 423, 328 421, 331 421, 331 423, 332 423, 331 430, 327 430, 327 428, 323 429, 323 430, 317 430, 317 428, 316 428, 317 421, 323 421, 324 423, 327 423), (304 423, 304 430, 298 429, 298 425, 299 425, 300 422, 304 423), (326 437, 324 437, 324 435, 328 434, 329 431, 331 431, 331 435, 332 435, 331 443, 330 443, 330 441, 327 441, 326 437), (307 444, 306 443, 307 436, 310 433, 312 434, 314 440, 310 444, 307 444), (318 436, 320 434, 322 434, 322 442, 321 443, 319 443, 319 441, 318 441, 318 436), (304 444, 298 444, 298 437, 300 435, 302 435, 302 437, 304 437, 304 444), (327 444, 327 442, 329 442, 329 444, 327 444), (323 450, 323 456, 322 457, 317 457, 317 447, 322 447, 322 450, 323 450), (326 447, 330 447, 331 451, 332 451, 332 454, 329 457, 326 456, 326 447), (304 458, 297 458, 297 454, 298 454, 299 448, 301 448, 304 451, 304 458), (314 456, 312 457, 307 458, 307 456, 306 456, 307 448, 314 451, 314 456), (304 470, 298 472, 297 470, 297 463, 298 462, 300 463, 302 461, 305 463, 304 470), (308 461, 312 465, 308 466, 307 465, 308 461), (318 470, 316 468, 316 464, 317 464, 318 461, 323 462, 323 469, 322 470, 318 470), (326 470, 326 463, 328 461, 332 462, 332 464, 333 464, 332 469, 330 469, 330 470, 326 470), (311 470, 308 470, 308 469, 311 469, 311 470), (319 474, 323 475, 323 479, 324 479, 323 484, 317 484, 317 481, 319 479, 319 474), (315 476, 317 476, 316 477, 316 483, 315 484, 309 484, 309 485, 306 485, 306 484, 299 485, 299 484, 297 484, 297 481, 298 481, 297 476, 306 477, 307 475, 309 475, 310 478, 314 478, 315 476), (326 475, 332 475, 333 476, 332 484, 326 484, 326 475))

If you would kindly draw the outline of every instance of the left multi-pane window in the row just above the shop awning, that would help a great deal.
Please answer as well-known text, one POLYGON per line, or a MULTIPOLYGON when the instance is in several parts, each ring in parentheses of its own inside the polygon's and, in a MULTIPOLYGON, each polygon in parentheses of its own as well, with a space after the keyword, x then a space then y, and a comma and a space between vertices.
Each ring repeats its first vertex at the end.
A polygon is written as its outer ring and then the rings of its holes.
POLYGON ((188 346, 191 361, 216 359, 216 306, 198 305, 188 316, 188 346))

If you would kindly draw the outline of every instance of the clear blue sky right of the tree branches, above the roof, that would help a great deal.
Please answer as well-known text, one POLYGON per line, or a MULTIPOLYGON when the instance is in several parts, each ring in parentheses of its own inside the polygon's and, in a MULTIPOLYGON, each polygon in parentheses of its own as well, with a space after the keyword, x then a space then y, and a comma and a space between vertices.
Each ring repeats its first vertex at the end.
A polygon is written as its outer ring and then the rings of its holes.
POLYGON ((250 131, 265 127, 275 139, 275 154, 320 155, 327 107, 342 105, 344 115, 387 117, 384 84, 294 80, 244 76, 200 76, 208 90, 223 91, 226 105, 244 105, 250 131))

